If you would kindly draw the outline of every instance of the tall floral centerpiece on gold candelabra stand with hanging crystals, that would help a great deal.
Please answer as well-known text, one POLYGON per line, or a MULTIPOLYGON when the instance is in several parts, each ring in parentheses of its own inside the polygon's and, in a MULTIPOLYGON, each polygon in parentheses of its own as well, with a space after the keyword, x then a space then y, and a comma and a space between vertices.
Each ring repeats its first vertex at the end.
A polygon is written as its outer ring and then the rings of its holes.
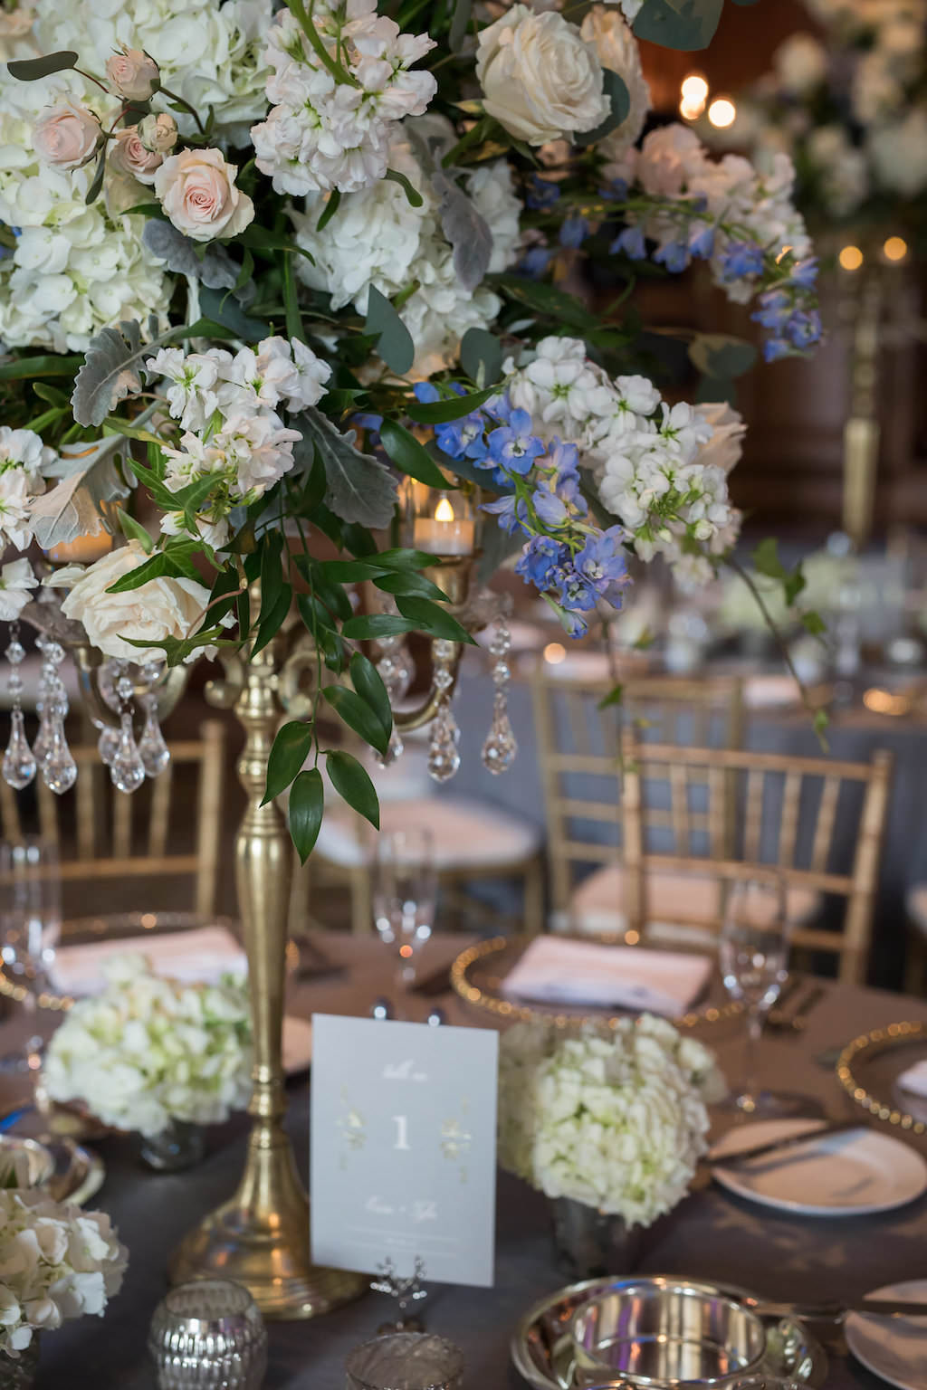
MULTIPOLYGON (((246 731, 254 1126, 239 1190, 174 1275, 221 1264, 265 1312, 304 1316, 360 1282, 310 1268, 282 1127, 275 799, 288 794, 303 859, 325 783, 378 821, 366 769, 321 741, 318 709, 381 759, 429 723, 432 776, 453 776, 461 645, 498 613, 471 585, 484 521, 574 635, 627 600, 628 555, 710 578, 738 532, 742 425, 666 393, 634 307, 641 263, 705 260, 738 303, 774 303, 781 356, 820 335, 814 260, 785 157, 760 177, 680 126, 638 147, 648 89, 630 24, 703 44, 717 0, 685 17, 664 0, 575 15, 468 0, 97 10, 36 0, 4 18, 0 538, 61 556, 89 537, 107 553, 0 573, 0 612, 40 628, 44 663, 29 742, 14 631, 3 773, 74 783, 67 648, 126 792, 165 764, 157 716, 183 663, 222 657, 211 694, 246 731), (586 259, 607 261, 612 302, 564 288, 586 259), (431 638, 432 684, 393 719, 409 631, 431 638)), ((684 336, 699 400, 723 402, 750 353, 684 336)), ((495 771, 514 755, 507 645, 500 624, 495 771)))

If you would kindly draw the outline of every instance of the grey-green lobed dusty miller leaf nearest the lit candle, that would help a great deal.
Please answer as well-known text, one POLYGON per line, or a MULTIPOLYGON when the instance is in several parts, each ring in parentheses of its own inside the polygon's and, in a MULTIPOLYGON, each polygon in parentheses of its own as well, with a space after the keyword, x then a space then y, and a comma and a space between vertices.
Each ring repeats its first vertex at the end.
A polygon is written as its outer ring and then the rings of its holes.
POLYGON ((379 459, 354 449, 356 432, 342 434, 314 406, 300 411, 293 427, 302 430, 304 441, 303 449, 296 446, 297 457, 309 445, 302 460, 306 467, 311 466, 313 450, 322 460, 328 481, 325 503, 335 516, 366 527, 389 525, 396 505, 396 480, 379 459))

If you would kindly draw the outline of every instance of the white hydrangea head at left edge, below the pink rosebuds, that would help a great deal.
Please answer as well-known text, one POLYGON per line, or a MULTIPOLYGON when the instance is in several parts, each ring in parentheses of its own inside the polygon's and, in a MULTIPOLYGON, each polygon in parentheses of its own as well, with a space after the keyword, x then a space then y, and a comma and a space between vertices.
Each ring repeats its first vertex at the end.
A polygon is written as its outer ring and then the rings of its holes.
POLYGON ((63 172, 32 153, 35 115, 53 93, 0 74, 0 222, 15 239, 0 260, 0 339, 82 352, 107 324, 167 314, 170 285, 142 245, 140 218, 86 206, 92 168, 63 172))

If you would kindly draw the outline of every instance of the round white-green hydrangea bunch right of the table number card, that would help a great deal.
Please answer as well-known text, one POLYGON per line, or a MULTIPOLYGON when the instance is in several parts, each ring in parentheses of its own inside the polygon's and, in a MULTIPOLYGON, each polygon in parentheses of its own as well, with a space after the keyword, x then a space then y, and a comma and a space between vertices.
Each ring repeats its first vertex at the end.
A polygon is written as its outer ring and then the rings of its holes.
POLYGON ((499 1162, 550 1198, 649 1226, 706 1152, 714 1058, 653 1015, 567 1033, 518 1023, 499 1054, 499 1162))

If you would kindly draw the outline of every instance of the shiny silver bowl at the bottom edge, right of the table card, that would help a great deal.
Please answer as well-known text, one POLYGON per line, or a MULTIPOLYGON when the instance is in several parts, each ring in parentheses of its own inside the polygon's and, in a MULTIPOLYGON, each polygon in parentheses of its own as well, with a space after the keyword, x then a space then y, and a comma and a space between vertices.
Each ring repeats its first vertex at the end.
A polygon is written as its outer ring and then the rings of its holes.
POLYGON ((730 1387, 766 1354, 755 1312, 685 1279, 628 1280, 578 1308, 571 1336, 580 1384, 730 1387))

